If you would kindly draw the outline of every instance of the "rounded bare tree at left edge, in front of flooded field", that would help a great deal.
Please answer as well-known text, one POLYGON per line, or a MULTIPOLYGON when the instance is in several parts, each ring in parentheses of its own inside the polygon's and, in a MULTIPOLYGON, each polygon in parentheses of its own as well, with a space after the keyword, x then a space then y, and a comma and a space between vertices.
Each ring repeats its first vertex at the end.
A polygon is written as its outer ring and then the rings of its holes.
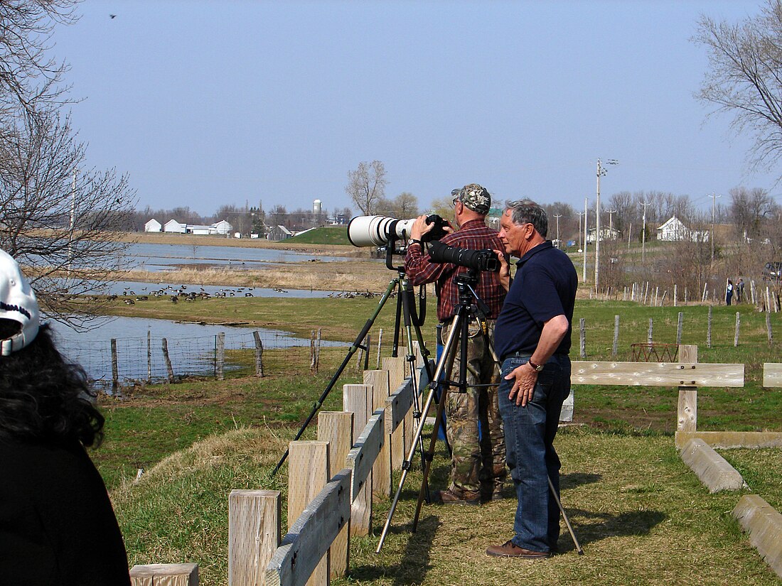
POLYGON ((125 268, 116 231, 131 226, 135 193, 127 177, 85 166, 67 118, 48 112, 3 130, 0 248, 27 267, 49 315, 84 326, 91 307, 77 296, 103 291, 125 268))

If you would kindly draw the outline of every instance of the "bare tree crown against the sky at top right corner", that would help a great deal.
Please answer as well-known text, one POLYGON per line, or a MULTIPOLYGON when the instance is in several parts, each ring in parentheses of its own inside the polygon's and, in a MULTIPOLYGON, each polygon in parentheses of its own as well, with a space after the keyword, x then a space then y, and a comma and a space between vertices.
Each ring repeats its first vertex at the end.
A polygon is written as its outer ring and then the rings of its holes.
POLYGON ((754 135, 755 166, 771 168, 782 156, 782 0, 738 24, 701 16, 693 40, 709 64, 696 97, 732 114, 738 133, 754 135))

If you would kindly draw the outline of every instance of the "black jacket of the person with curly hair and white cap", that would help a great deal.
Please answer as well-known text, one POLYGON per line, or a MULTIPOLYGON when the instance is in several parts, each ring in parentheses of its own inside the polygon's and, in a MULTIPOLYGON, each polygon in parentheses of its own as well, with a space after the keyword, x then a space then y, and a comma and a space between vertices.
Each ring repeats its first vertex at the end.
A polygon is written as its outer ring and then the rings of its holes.
POLYGON ((0 441, 0 581, 129 586, 106 485, 78 441, 0 441))

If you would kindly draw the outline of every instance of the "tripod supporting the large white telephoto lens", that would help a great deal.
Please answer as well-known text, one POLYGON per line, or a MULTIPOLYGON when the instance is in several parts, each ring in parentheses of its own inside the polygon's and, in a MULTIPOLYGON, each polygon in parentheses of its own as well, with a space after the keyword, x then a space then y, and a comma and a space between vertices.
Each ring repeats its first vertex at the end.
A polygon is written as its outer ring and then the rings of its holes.
MULTIPOLYGON (((394 252, 394 242, 390 241, 389 245, 387 245, 386 247, 386 266, 388 266, 388 268, 391 270, 396 270, 396 277, 389 281, 388 288, 386 288, 386 292, 383 293, 383 295, 381 296, 380 301, 378 302, 378 306, 375 307, 374 313, 372 313, 372 315, 369 317, 366 323, 364 323, 364 327, 361 328, 361 332, 359 332, 355 341, 353 341, 353 344, 350 345, 350 348, 348 349, 345 359, 343 359, 343 362, 339 365, 339 368, 332 376, 331 381, 328 382, 328 385, 326 386, 325 390, 317 398, 317 401, 314 402, 310 414, 307 416, 307 419, 304 421, 302 427, 300 427, 300 430, 296 432, 296 436, 293 438, 293 441, 296 441, 301 438, 304 431, 307 429, 307 426, 309 426, 310 422, 314 419, 317 411, 321 409, 321 407, 323 406, 323 402, 325 402, 326 397, 328 397, 328 394, 332 391, 332 388, 334 388, 336 382, 339 380, 339 377, 342 376, 343 370, 345 370, 346 366, 350 363, 350 359, 353 358, 353 355, 359 349, 362 349, 364 350, 364 352, 367 353, 369 352, 368 345, 364 344, 364 340, 368 332, 370 331, 372 325, 375 323, 375 320, 377 319, 378 315, 382 311, 383 307, 386 305, 386 302, 393 294, 393 291, 397 289, 398 289, 398 295, 396 295, 396 317, 394 321, 392 356, 395 357, 398 356, 401 325, 404 322, 405 338, 407 340, 406 359, 407 362, 410 363, 411 365, 410 371, 413 374, 413 376, 411 377, 412 385, 413 385, 413 416, 417 423, 421 419, 418 378, 415 376, 417 369, 415 367, 415 352, 413 347, 413 336, 415 336, 416 341, 418 341, 418 347, 421 348, 421 356, 423 356, 424 367, 427 376, 429 377, 429 381, 431 381, 432 372, 431 372, 431 365, 429 363, 429 350, 426 348, 424 344, 423 336, 421 335, 421 324, 425 319, 425 307, 426 307, 425 295, 421 295, 422 298, 421 311, 420 314, 417 315, 415 312, 413 286, 410 284, 410 280, 407 278, 407 275, 405 274, 404 266, 393 266, 392 263, 393 252, 394 252)), ((421 454, 423 454, 424 445, 423 445, 423 441, 420 438, 420 434, 416 439, 416 441, 419 442, 421 448, 421 454)), ((412 448, 414 449, 415 445, 412 445, 412 448)), ((285 463, 285 459, 288 458, 289 453, 290 453, 290 448, 286 448, 285 453, 282 455, 282 458, 280 458, 279 462, 277 463, 277 466, 274 466, 274 470, 271 471, 272 477, 276 473, 278 473, 278 471, 282 467, 282 464, 285 463)))

